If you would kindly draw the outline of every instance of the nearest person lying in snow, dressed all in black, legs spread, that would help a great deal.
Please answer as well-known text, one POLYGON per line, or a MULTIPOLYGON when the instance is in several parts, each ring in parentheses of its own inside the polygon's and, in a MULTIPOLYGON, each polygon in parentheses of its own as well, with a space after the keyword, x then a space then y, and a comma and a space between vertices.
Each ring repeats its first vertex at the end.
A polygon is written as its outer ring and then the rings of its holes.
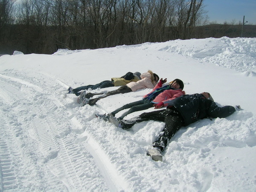
MULTIPOLYGON (((240 110, 240 106, 236 105, 240 110)), ((157 140, 153 143, 153 148, 147 151, 147 155, 155 161, 162 161, 161 151, 166 148, 168 141, 182 127, 204 118, 225 118, 236 111, 232 106, 218 107, 212 96, 207 93, 196 93, 183 95, 172 100, 166 109, 142 113, 129 120, 118 120, 114 116, 109 117, 109 121, 116 126, 128 129, 135 123, 156 120, 165 122, 165 127, 157 140)))

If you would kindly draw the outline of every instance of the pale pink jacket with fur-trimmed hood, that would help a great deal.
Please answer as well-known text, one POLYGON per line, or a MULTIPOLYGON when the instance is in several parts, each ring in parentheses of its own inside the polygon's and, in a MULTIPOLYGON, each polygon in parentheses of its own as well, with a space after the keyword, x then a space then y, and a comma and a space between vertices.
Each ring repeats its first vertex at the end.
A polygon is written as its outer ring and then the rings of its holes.
POLYGON ((148 70, 147 73, 141 74, 140 77, 141 77, 140 81, 130 82, 126 85, 130 87, 132 91, 137 91, 139 89, 145 89, 145 88, 153 89, 154 86, 157 84, 157 82, 154 81, 154 75, 151 70, 148 70))

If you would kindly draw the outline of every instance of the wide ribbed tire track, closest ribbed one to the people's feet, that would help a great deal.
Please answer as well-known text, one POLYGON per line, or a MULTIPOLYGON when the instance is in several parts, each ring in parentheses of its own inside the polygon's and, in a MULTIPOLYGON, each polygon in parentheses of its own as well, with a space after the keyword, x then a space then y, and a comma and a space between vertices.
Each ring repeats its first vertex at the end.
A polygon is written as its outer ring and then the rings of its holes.
MULTIPOLYGON (((47 98, 44 100, 47 100, 47 98)), ((47 110, 52 108, 49 107, 49 104, 51 104, 50 101, 45 102, 45 104, 47 105, 40 105, 36 108, 36 110, 39 110, 39 114, 46 114, 48 113, 47 110)), ((54 103, 52 103, 52 105, 54 105, 54 103)), ((95 170, 98 170, 98 168, 97 166, 92 165, 91 161, 93 158, 90 157, 91 155, 81 152, 79 145, 74 143, 76 137, 69 137, 69 129, 72 126, 69 122, 70 119, 64 117, 62 111, 56 113, 57 111, 58 108, 47 115, 41 115, 40 118, 34 121, 34 123, 37 124, 33 126, 34 133, 37 135, 38 140, 41 140, 41 148, 46 154, 46 159, 44 161, 46 163, 49 161, 49 170, 52 170, 51 168, 54 167, 54 172, 52 173, 67 186, 68 190, 86 189, 88 188, 88 185, 91 184, 93 177, 88 173, 85 174, 84 170, 89 172, 93 167, 95 170), (67 119, 67 122, 64 122, 64 125, 66 126, 63 126, 62 119, 65 118, 67 119), (45 131, 45 129, 49 131, 45 131), (49 149, 51 152, 47 154, 49 149), (87 163, 88 160, 90 161, 89 168, 87 163), (69 178, 64 179, 65 175, 69 175, 69 178), (87 182, 88 176, 91 177, 91 179, 87 182), (72 182, 69 181, 70 178, 72 178, 72 182)), ((93 175, 98 175, 99 177, 94 183, 98 183, 98 185, 101 183, 101 188, 106 190, 107 187, 105 186, 99 171, 94 172, 93 175)))

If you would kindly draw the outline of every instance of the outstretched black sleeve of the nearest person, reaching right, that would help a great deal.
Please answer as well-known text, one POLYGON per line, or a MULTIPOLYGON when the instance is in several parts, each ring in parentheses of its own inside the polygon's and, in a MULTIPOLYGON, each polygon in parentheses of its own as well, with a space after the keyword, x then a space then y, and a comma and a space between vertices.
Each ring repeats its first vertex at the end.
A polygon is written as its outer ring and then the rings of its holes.
POLYGON ((207 111, 208 115, 213 118, 225 118, 227 116, 230 116, 232 113, 234 113, 236 109, 232 106, 224 106, 224 107, 218 107, 215 102, 212 102, 212 104, 209 107, 209 110, 207 111))

